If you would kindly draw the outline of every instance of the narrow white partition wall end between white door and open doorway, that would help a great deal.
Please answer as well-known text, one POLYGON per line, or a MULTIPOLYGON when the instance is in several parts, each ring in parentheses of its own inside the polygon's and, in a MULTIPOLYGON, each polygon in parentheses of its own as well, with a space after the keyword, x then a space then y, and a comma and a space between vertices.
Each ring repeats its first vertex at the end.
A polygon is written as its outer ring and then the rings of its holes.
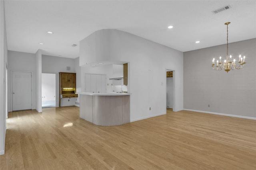
POLYGON ((42 50, 36 52, 36 110, 42 112, 42 50))

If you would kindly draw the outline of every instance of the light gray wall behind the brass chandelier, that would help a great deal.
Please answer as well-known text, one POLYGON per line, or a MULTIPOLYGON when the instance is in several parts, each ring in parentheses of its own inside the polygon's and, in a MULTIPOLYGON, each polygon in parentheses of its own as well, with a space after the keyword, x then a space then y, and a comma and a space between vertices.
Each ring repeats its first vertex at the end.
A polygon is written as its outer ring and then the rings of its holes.
POLYGON ((255 118, 256 39, 228 45, 236 59, 246 56, 241 70, 212 69, 212 59, 226 58, 226 50, 224 44, 184 53, 184 109, 255 118))

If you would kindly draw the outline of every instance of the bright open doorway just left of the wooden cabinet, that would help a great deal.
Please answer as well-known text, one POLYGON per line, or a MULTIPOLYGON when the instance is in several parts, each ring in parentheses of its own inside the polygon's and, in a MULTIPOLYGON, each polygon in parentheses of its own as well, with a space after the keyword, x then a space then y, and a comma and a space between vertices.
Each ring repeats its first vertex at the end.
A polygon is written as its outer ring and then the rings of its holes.
POLYGON ((56 74, 42 73, 42 108, 56 107, 56 74))

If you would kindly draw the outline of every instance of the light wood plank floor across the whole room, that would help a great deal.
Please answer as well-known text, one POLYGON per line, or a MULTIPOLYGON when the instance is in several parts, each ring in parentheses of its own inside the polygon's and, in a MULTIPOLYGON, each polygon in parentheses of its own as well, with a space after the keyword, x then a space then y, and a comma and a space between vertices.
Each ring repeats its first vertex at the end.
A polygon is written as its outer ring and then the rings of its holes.
POLYGON ((102 127, 79 108, 10 112, 1 170, 256 170, 256 120, 172 112, 102 127))

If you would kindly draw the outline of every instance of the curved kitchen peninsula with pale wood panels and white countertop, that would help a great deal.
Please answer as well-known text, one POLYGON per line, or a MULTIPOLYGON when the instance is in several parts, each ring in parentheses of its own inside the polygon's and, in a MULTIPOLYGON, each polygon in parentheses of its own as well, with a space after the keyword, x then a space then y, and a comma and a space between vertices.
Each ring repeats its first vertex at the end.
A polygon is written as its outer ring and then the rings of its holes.
POLYGON ((130 93, 80 92, 80 117, 96 125, 130 122, 130 93))

